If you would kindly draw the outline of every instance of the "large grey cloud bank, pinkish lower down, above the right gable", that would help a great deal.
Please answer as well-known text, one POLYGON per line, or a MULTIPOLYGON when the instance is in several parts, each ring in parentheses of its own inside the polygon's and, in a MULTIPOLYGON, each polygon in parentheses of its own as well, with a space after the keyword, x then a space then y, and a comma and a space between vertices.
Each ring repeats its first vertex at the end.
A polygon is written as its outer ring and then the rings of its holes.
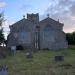
POLYGON ((75 28, 75 0, 54 0, 45 12, 50 14, 50 17, 64 22, 64 30, 72 30, 75 28), (57 3, 55 3, 57 1, 57 3))

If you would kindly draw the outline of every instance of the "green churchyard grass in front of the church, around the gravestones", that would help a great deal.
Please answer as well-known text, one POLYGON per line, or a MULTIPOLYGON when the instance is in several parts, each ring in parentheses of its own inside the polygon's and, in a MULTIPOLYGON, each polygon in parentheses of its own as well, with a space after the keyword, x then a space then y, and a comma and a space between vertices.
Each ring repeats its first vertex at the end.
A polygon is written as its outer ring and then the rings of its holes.
POLYGON ((0 59, 0 65, 8 66, 9 75, 75 75, 75 50, 38 51, 32 59, 27 59, 25 52, 17 52, 15 56, 0 59), (56 55, 63 55, 63 62, 55 62, 56 55), (60 67, 71 64, 72 67, 60 67))

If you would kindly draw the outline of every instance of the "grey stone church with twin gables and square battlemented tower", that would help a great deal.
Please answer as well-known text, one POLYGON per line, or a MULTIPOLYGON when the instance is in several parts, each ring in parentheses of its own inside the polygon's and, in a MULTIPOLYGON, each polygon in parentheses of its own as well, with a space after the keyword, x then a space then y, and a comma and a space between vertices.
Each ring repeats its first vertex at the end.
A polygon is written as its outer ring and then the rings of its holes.
POLYGON ((24 49, 63 49, 67 48, 64 24, 49 16, 39 21, 39 14, 27 14, 10 27, 7 47, 22 46, 24 49))

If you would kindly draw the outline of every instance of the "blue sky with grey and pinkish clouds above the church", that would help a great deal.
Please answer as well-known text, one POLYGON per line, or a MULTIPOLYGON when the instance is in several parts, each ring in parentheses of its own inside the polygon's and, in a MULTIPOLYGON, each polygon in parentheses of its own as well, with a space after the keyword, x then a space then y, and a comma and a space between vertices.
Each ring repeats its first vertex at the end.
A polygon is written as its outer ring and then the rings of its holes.
POLYGON ((75 30, 75 0, 0 0, 0 11, 5 14, 5 30, 26 16, 27 13, 39 13, 40 19, 50 17, 64 23, 64 32, 75 30))

